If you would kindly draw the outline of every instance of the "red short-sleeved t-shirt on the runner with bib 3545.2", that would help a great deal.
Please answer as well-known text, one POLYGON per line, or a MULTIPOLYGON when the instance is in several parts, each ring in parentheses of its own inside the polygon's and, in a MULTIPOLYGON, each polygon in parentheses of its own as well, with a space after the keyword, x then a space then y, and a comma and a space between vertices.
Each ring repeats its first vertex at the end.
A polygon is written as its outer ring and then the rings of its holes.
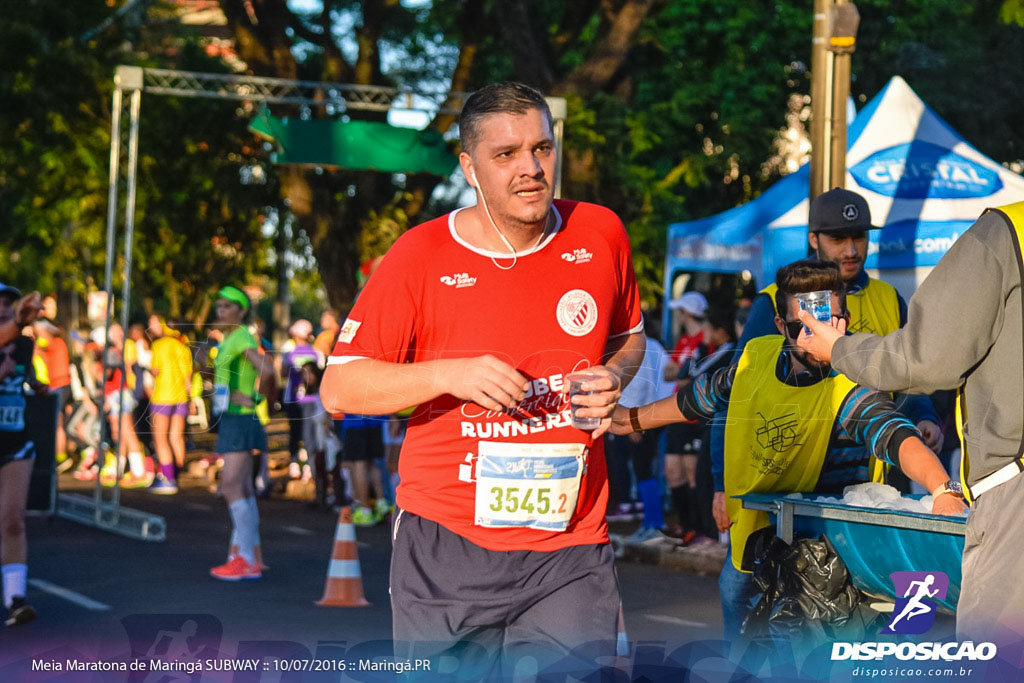
MULTIPOLYGON (((569 424, 559 391, 566 374, 601 364, 609 337, 642 331, 640 299, 618 218, 578 202, 556 201, 555 210, 556 229, 508 270, 456 233, 454 213, 409 230, 370 279, 329 360, 417 362, 489 353, 531 380, 515 416, 487 413, 451 394, 419 405, 402 444, 398 506, 490 550, 607 542, 602 440, 569 424), (476 524, 481 441, 584 444, 586 466, 565 530, 476 524)), ((498 262, 512 263, 507 257, 498 262)))

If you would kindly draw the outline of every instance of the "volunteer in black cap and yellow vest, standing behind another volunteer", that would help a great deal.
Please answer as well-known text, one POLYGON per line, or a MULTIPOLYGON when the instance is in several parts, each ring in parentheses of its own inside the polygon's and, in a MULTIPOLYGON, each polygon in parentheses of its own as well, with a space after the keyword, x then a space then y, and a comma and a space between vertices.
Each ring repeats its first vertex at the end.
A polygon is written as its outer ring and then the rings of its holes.
MULTIPOLYGON (((811 202, 808 214, 807 241, 819 261, 834 261, 846 285, 847 311, 850 313, 851 332, 889 334, 906 323, 906 302, 898 292, 881 280, 869 278, 864 270, 867 257, 867 230, 878 229, 871 224, 871 212, 863 197, 842 187, 819 195, 811 202)), ((751 314, 737 345, 736 357, 746 343, 763 335, 776 334, 775 285, 769 285, 755 297, 751 314)), ((916 425, 921 437, 929 449, 938 453, 942 449, 942 428, 939 417, 928 396, 899 396, 899 411, 916 425)), ((721 461, 723 426, 715 421, 712 427, 712 472, 715 490, 721 488, 721 461)), ((868 465, 871 481, 883 481, 886 470, 872 459, 868 465)))

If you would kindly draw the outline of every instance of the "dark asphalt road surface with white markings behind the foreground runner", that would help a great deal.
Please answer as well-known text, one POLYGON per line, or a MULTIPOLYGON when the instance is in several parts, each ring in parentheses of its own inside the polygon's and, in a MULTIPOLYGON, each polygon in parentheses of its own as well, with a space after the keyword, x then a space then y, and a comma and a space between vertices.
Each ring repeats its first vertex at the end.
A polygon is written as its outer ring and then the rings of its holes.
MULTIPOLYGON (((193 654, 229 661, 390 651, 390 543, 385 525, 356 532, 362 585, 371 605, 319 607, 313 603, 324 592, 337 514, 313 510, 301 501, 261 500, 264 561, 270 568, 260 581, 222 583, 211 579, 208 570, 225 557, 226 507, 203 480, 185 477, 183 484, 178 495, 170 497, 122 492, 122 505, 166 519, 163 543, 128 539, 62 518, 29 518, 29 598, 39 617, 24 627, 0 629, 0 681, 68 680, 67 671, 47 673, 38 668, 44 666, 41 663, 69 658, 124 661, 170 656, 180 643, 193 654)), ((60 486, 91 490, 67 475, 60 486)), ((632 563, 621 563, 618 573, 632 647, 648 653, 671 651, 719 637, 716 579, 632 563)), ((176 675, 183 678, 148 672, 134 677, 100 673, 98 679, 88 674, 82 680, 189 678, 176 675)), ((282 676, 273 671, 261 675, 216 673, 212 680, 282 676)), ((281 680, 289 676, 284 674, 281 680)), ((210 675, 203 680, 211 680, 210 675)), ((337 675, 325 680, 337 680, 337 675)))

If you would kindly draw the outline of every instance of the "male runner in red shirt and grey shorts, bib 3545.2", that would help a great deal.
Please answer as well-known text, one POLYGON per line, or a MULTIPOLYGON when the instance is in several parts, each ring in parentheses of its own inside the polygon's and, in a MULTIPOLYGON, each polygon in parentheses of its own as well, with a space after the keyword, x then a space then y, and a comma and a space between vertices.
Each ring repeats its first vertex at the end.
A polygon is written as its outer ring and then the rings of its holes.
POLYGON ((457 654, 487 677, 584 643, 614 653, 600 436, 644 337, 622 222, 553 201, 543 96, 487 86, 460 134, 479 202, 395 243, 342 327, 321 397, 328 412, 418 407, 393 528, 396 652, 457 654), (563 393, 584 370, 595 393, 573 405, 601 418, 593 431, 571 426, 563 393))

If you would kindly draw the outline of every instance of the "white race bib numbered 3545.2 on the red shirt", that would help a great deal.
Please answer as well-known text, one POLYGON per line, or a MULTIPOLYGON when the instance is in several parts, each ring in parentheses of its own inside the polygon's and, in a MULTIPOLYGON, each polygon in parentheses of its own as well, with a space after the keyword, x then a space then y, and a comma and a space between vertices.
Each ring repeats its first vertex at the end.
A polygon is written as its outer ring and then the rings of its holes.
POLYGON ((564 531, 575 512, 583 443, 479 442, 477 526, 564 531))

